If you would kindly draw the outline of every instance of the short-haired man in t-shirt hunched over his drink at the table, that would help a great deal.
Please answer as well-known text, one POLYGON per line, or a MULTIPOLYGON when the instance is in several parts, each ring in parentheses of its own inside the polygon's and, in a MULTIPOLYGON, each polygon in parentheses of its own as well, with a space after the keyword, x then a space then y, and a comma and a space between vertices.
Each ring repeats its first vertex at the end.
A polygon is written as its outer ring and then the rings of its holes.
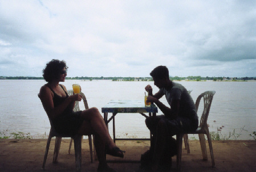
POLYGON ((182 131, 196 130, 198 116, 192 97, 180 83, 170 81, 166 66, 157 66, 150 75, 154 84, 159 87, 159 91, 153 95, 152 87, 147 85, 145 87, 149 95, 147 102, 155 103, 164 113, 164 115, 158 115, 156 118, 150 117, 145 120, 155 142, 154 145, 151 145, 150 150, 152 153, 151 170, 157 171, 162 165, 165 165, 162 163, 168 163, 168 156, 171 165, 171 156, 176 153, 176 144, 173 144, 172 136, 182 131), (165 95, 170 107, 160 102, 159 99, 163 95, 165 95))

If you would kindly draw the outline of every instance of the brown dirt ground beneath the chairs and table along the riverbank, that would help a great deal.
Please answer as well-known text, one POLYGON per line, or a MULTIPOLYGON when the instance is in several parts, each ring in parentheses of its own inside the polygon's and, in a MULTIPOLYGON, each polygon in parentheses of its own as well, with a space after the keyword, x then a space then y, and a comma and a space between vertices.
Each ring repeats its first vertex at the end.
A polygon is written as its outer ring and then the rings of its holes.
MULTIPOLYGON (((0 171, 42 171, 42 163, 47 140, 0 140, 0 171)), ((68 154, 69 139, 63 139, 58 163, 52 163, 54 139, 51 141, 44 171, 75 171, 75 153, 72 146, 68 154)), ((107 156, 107 160, 138 162, 108 162, 116 171, 140 171, 140 156, 149 149, 149 141, 117 141, 117 146, 125 150, 124 158, 107 156)), ((213 141, 216 167, 208 150, 208 161, 202 160, 200 142, 190 140, 190 154, 182 149, 181 171, 256 171, 256 141, 213 141)), ((184 144, 183 144, 184 146, 184 144)), ((82 171, 96 171, 98 161, 91 163, 88 140, 82 144, 82 171)), ((172 170, 176 170, 176 156, 172 158, 172 170)))

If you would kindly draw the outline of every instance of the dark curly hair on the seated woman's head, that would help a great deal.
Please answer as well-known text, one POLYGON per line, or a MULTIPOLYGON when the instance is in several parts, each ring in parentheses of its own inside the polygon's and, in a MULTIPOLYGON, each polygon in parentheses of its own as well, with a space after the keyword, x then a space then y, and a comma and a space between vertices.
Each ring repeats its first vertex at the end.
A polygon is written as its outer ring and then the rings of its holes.
POLYGON ((66 68, 66 70, 68 68, 66 61, 52 59, 46 64, 46 68, 44 68, 42 71, 44 80, 46 80, 46 82, 51 82, 54 79, 58 79, 63 68, 66 68))

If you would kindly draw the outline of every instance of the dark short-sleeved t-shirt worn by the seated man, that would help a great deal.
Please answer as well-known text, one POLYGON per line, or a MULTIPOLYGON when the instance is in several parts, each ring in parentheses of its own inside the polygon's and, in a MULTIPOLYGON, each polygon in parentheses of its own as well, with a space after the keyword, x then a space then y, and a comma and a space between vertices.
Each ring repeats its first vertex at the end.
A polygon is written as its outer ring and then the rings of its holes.
POLYGON ((165 94, 166 100, 170 106, 172 100, 180 100, 180 109, 178 110, 179 117, 198 120, 196 106, 186 88, 176 82, 172 82, 172 85, 172 88, 169 90, 161 88, 159 90, 160 93, 165 94))

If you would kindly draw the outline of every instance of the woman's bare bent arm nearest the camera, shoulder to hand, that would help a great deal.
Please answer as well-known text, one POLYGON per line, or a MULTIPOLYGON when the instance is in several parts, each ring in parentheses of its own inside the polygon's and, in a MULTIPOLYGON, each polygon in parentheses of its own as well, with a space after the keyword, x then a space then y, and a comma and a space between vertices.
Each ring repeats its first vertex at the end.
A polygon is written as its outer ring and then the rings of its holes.
POLYGON ((79 94, 71 95, 66 100, 64 100, 64 102, 60 104, 58 107, 54 107, 53 96, 54 94, 47 86, 41 87, 39 97, 43 104, 44 110, 46 111, 47 115, 50 116, 51 119, 54 119, 60 114, 62 114, 62 112, 68 106, 70 106, 70 103, 74 103, 75 100, 80 101, 82 99, 82 96, 79 96, 79 94))

